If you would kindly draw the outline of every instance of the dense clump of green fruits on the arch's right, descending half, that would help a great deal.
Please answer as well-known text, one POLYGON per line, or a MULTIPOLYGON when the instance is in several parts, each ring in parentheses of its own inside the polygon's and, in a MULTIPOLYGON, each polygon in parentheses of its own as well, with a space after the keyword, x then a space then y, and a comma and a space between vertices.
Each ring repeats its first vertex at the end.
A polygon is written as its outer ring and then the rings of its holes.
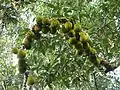
POLYGON ((67 21, 62 26, 62 31, 64 34, 68 35, 68 42, 73 45, 77 55, 82 55, 85 52, 95 66, 100 65, 100 60, 97 58, 96 50, 92 48, 92 40, 88 33, 83 31, 79 23, 73 24, 72 22, 67 21))

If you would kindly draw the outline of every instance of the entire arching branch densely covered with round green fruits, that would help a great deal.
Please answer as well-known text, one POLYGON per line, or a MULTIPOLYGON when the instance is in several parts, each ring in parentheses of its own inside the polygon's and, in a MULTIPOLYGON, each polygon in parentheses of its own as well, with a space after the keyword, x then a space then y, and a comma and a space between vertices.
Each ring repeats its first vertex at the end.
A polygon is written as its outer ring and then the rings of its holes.
POLYGON ((25 38, 22 43, 22 49, 18 50, 17 48, 13 48, 12 52, 17 54, 18 68, 20 73, 24 73, 26 71, 26 50, 31 49, 31 44, 33 40, 38 40, 41 37, 41 34, 55 34, 58 30, 61 30, 65 37, 68 37, 68 42, 75 48, 77 55, 86 54, 89 60, 97 67, 100 64, 105 67, 107 70, 111 69, 111 65, 109 63, 104 63, 105 61, 101 61, 96 54, 96 50, 92 47, 92 40, 85 30, 81 27, 79 23, 74 24, 72 20, 68 19, 49 19, 49 18, 36 18, 36 24, 32 27, 32 30, 28 30, 25 35, 25 38))

